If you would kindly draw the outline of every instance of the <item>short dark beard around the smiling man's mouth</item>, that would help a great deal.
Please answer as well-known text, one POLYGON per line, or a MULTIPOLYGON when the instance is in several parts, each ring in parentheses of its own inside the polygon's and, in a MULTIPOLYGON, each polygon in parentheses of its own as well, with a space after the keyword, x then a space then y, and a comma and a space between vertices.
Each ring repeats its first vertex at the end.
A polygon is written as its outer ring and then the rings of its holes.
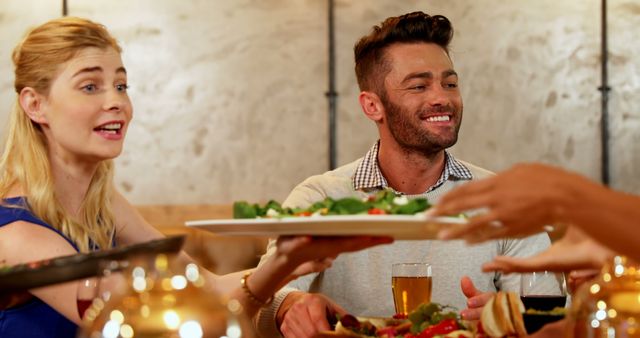
POLYGON ((462 109, 456 112, 453 106, 435 107, 430 110, 420 110, 410 112, 403 107, 396 105, 386 97, 381 97, 382 104, 387 112, 387 123, 391 136, 396 140, 402 149, 407 152, 419 152, 425 155, 435 154, 447 149, 458 141, 458 131, 462 120, 462 109), (420 116, 427 113, 452 113, 452 119, 457 118, 458 123, 455 129, 447 136, 437 135, 421 125, 426 123, 420 116))

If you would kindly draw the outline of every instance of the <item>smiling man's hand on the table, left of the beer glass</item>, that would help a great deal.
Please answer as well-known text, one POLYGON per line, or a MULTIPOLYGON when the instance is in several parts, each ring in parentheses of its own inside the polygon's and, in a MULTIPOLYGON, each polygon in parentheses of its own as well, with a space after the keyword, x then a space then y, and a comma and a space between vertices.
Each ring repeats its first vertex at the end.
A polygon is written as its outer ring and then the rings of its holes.
POLYGON ((285 338, 306 338, 331 330, 327 314, 336 313, 347 312, 321 294, 291 292, 280 305, 276 320, 285 338))

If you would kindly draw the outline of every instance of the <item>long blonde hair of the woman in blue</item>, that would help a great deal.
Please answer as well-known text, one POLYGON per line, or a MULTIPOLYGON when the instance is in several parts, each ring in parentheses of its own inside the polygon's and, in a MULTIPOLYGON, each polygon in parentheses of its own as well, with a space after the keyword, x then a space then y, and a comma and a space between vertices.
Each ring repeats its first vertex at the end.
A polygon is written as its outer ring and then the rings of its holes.
MULTIPOLYGON (((60 65, 88 47, 111 47, 121 52, 104 26, 86 19, 60 18, 31 30, 13 51, 16 93, 31 87, 48 95, 60 65)), ((22 188, 35 216, 68 236, 81 252, 92 250, 93 245, 103 249, 111 246, 115 229, 111 210, 113 162, 98 165, 80 217, 74 220, 56 197, 47 139, 40 125, 22 109, 17 96, 0 158, 0 197, 7 197, 14 187, 22 188)))

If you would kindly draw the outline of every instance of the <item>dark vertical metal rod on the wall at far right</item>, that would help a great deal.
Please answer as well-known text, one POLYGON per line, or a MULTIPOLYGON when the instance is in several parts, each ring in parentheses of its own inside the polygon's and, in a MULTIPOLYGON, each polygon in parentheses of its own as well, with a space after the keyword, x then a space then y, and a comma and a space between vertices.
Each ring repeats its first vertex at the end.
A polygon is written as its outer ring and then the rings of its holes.
POLYGON ((601 28, 601 85, 598 90, 602 94, 601 105, 601 137, 602 137, 602 183, 609 185, 610 173, 609 173, 609 74, 608 74, 608 62, 609 51, 607 48, 607 0, 602 0, 602 28, 601 28))

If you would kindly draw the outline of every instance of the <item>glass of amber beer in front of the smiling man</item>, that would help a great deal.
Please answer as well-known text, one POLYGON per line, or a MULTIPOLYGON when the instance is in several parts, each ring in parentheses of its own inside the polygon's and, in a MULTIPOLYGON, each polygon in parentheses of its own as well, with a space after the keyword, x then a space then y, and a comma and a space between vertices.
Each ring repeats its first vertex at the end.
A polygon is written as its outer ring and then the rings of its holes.
POLYGON ((431 302, 431 265, 396 263, 391 267, 391 289, 396 314, 408 315, 422 303, 431 302))

